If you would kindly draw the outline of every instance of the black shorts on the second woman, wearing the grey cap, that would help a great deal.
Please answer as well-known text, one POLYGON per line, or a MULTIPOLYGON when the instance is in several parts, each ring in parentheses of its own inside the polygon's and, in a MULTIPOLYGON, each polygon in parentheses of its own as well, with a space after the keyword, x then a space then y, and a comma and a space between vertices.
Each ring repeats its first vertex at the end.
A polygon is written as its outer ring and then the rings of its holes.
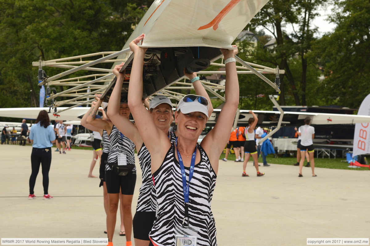
POLYGON ((155 212, 136 211, 132 219, 134 238, 149 241, 149 232, 155 221, 155 212))

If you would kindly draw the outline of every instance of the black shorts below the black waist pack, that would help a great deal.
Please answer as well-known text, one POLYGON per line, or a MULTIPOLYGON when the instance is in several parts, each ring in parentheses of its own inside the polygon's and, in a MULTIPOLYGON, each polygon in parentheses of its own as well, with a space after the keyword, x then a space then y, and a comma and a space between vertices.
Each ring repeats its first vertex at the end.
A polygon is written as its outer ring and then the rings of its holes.
POLYGON ((105 185, 107 186, 108 193, 122 195, 133 195, 136 183, 136 173, 129 173, 125 176, 117 175, 112 170, 105 171, 105 185))

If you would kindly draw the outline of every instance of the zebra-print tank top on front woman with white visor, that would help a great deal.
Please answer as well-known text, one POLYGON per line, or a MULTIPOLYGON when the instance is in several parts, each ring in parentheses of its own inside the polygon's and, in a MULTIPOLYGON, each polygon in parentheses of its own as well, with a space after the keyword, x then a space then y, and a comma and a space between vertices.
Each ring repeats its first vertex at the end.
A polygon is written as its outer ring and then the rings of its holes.
MULTIPOLYGON (((216 174, 207 154, 198 145, 201 161, 195 165, 189 190, 189 226, 198 229, 198 246, 216 246, 215 219, 211 211, 216 174)), ((175 245, 175 225, 181 225, 185 216, 181 170, 172 143, 159 169, 153 174, 158 202, 158 215, 149 233, 158 246, 175 245)), ((185 167, 189 180, 189 167, 185 167)))

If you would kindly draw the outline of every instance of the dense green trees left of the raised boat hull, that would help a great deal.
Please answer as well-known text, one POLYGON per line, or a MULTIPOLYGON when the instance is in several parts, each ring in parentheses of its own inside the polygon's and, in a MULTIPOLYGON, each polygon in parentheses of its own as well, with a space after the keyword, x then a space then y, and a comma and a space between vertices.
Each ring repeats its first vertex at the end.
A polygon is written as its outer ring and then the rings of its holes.
POLYGON ((0 0, 0 4, 2 107, 38 107, 33 61, 121 50, 147 10, 142 5, 147 2, 138 0, 0 0))

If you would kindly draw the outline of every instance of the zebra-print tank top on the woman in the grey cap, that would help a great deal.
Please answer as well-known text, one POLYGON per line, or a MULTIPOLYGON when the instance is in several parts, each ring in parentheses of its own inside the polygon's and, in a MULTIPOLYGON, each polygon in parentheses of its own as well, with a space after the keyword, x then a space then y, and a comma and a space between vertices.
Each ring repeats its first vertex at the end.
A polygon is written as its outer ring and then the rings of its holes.
MULTIPOLYGON (((171 142, 176 141, 176 136, 170 132, 171 142)), ((157 210, 157 197, 152 181, 150 153, 144 143, 138 152, 139 164, 141 167, 141 187, 136 211, 155 212, 157 210)))

